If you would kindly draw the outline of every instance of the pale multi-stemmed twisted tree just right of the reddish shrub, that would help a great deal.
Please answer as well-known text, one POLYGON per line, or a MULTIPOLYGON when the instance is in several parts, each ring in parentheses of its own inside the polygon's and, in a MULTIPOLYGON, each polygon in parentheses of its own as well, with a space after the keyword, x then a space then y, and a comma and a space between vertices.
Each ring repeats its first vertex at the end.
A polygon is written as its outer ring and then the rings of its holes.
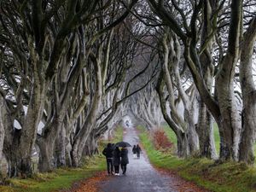
POLYGON ((193 84, 190 84, 191 87, 188 90, 183 88, 179 72, 181 48, 175 34, 172 36, 172 33, 166 30, 161 43, 163 66, 156 90, 160 96, 164 118, 177 136, 177 154, 178 156, 185 157, 189 154, 194 154, 199 149, 194 117, 195 88, 193 88, 193 84), (173 78, 171 73, 174 76, 173 78), (168 93, 167 99, 165 91, 168 93), (177 110, 177 100, 179 97, 184 107, 183 114, 177 110), (170 108, 170 113, 167 111, 167 106, 170 108))

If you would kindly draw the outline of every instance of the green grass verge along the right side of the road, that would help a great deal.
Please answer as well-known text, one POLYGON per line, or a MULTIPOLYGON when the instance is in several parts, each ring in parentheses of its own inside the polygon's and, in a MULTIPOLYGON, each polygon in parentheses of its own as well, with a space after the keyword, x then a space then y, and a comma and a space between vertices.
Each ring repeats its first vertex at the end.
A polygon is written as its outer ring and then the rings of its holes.
MULTIPOLYGON (((217 164, 207 159, 178 159, 170 153, 164 154, 155 150, 148 132, 142 127, 138 129, 141 131, 140 139, 143 148, 147 151, 148 158, 154 166, 175 171, 179 176, 212 191, 256 191, 256 169, 254 167, 236 162, 217 164)), ((167 131, 167 137, 174 139, 172 143, 176 142, 172 132, 167 131)))

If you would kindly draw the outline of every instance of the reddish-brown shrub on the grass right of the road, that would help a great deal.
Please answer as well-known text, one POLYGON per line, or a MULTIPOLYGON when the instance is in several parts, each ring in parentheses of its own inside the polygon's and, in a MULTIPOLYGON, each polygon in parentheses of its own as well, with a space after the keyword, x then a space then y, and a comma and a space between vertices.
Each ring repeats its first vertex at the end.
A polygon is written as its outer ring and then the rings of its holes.
POLYGON ((166 136, 166 132, 162 129, 153 131, 154 147, 160 150, 168 150, 173 147, 173 143, 166 136))

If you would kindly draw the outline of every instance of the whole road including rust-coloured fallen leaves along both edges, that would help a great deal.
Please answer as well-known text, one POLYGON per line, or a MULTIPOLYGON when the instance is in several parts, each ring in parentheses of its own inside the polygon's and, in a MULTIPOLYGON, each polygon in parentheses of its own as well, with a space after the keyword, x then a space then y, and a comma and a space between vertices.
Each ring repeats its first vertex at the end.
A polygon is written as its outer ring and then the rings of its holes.
MULTIPOLYGON (((124 141, 131 145, 139 143, 137 132, 134 128, 127 128, 124 141)), ((172 172, 156 170, 148 161, 147 154, 143 152, 141 158, 133 159, 131 148, 126 175, 107 176, 103 172, 100 176, 92 177, 80 183, 75 192, 206 192, 195 184, 184 181, 172 172), (92 184, 93 183, 93 184, 92 184), (93 185, 93 187, 92 187, 93 185)))

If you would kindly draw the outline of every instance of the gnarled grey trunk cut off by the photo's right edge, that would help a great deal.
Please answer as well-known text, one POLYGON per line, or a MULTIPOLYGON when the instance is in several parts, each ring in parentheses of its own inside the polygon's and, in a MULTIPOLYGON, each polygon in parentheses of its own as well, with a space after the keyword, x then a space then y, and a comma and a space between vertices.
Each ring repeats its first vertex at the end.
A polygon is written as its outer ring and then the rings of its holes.
POLYGON ((241 46, 240 83, 243 101, 242 133, 239 148, 239 160, 254 163, 253 137, 256 127, 256 89, 253 82, 252 56, 256 39, 256 17, 251 21, 241 46))

